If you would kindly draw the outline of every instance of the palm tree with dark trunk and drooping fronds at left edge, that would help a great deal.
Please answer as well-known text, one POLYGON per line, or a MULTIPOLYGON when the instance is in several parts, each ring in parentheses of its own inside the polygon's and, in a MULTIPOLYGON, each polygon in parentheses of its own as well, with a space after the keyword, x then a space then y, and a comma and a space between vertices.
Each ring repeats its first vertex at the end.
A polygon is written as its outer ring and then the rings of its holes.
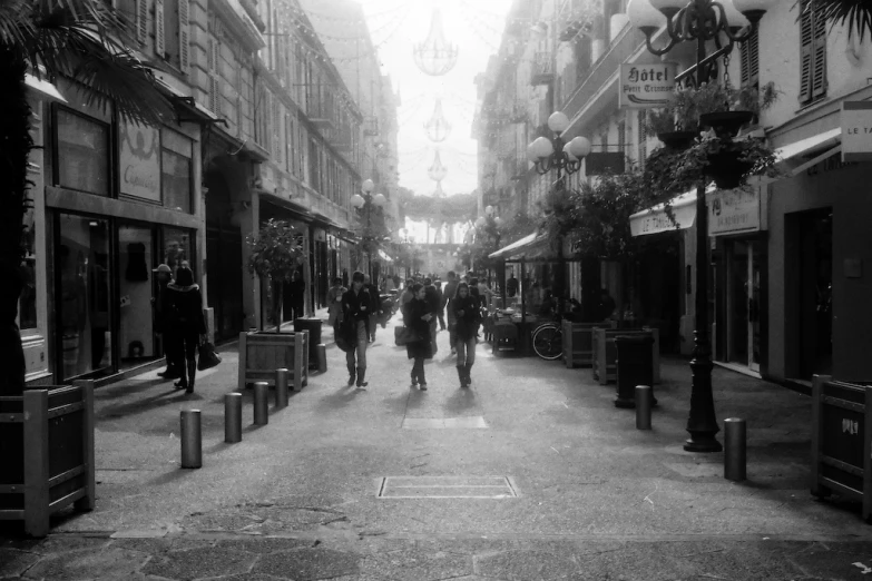
POLYGON ((23 217, 33 140, 26 73, 75 82, 84 102, 115 107, 134 122, 174 115, 150 70, 123 40, 129 21, 102 0, 0 0, 0 395, 25 387, 25 355, 16 323, 22 287, 23 217))

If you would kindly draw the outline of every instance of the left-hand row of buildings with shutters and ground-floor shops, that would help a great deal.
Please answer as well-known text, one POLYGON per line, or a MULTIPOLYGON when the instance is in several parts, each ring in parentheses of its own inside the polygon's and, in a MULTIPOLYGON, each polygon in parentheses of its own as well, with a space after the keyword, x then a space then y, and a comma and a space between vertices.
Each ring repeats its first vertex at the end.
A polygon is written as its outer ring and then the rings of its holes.
POLYGON ((128 124, 114 108, 89 107, 72 80, 28 78, 42 146, 30 158, 19 316, 29 383, 111 378, 163 357, 159 264, 193 268, 213 337, 262 327, 271 290, 247 272, 246 240, 268 218, 300 230, 308 313, 325 304, 330 278, 352 268, 365 119, 302 8, 115 7, 177 118, 128 124))

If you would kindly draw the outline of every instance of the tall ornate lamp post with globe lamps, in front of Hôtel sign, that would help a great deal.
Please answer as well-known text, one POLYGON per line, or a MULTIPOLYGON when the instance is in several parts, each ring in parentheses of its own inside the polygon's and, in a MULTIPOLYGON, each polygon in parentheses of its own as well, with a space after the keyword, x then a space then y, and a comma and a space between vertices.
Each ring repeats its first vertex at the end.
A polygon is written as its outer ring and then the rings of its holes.
MULTIPOLYGON (((679 42, 696 41, 696 86, 708 80, 708 66, 722 55, 728 55, 735 42, 747 40, 777 0, 630 0, 627 17, 645 33, 648 51, 666 55, 679 42), (668 40, 662 48, 651 43, 654 33, 666 27, 668 40), (726 36, 725 47, 706 57, 706 42, 726 36)), ((718 43, 719 46, 719 43, 718 43)), ((719 452, 719 431, 712 393, 712 348, 708 337, 708 214, 705 204, 706 185, 696 186, 696 331, 690 361, 693 376, 690 414, 684 444, 688 452, 719 452)))

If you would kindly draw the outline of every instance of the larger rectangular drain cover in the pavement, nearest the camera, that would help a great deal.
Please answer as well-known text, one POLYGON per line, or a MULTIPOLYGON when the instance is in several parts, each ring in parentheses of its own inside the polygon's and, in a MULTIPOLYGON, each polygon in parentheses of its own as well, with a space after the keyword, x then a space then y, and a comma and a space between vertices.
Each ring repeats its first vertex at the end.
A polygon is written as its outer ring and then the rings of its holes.
POLYGON ((518 489, 508 476, 386 476, 380 499, 515 499, 518 489))

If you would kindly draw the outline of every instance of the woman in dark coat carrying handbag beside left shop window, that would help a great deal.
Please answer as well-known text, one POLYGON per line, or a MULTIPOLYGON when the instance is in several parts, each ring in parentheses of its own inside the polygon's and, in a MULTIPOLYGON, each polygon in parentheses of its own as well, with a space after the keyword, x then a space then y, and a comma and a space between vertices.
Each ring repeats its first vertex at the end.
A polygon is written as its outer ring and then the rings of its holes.
POLYGON ((175 385, 186 393, 194 393, 197 346, 206 337, 206 318, 203 315, 203 295, 187 266, 179 267, 175 282, 167 285, 167 323, 176 337, 176 348, 185 354, 188 372, 185 375, 185 370, 180 370, 182 378, 175 385))

